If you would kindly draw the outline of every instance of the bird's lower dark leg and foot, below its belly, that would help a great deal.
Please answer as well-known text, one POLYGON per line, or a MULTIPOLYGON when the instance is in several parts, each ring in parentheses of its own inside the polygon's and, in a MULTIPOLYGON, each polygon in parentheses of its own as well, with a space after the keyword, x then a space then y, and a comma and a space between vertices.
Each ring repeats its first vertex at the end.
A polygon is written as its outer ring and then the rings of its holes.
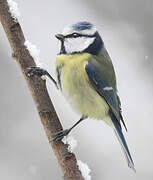
POLYGON ((62 131, 59 131, 59 132, 55 133, 54 138, 51 141, 60 141, 60 140, 62 140, 64 136, 67 136, 74 127, 76 127, 81 121, 83 121, 86 118, 87 118, 87 116, 83 115, 79 119, 79 121, 77 121, 71 128, 65 129, 65 130, 62 130, 62 131))

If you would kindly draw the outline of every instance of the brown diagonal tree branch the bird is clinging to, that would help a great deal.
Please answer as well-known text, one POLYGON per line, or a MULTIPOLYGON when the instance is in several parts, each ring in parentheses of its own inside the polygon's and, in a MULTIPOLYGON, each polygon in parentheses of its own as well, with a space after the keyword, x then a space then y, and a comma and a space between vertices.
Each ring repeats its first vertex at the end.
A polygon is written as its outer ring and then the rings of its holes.
MULTIPOLYGON (((6 0, 0 0, 0 21, 11 45, 13 57, 22 70, 46 135, 50 140, 53 137, 53 133, 62 130, 62 126, 48 95, 45 81, 36 76, 29 78, 26 75, 26 69, 31 66, 36 66, 36 64, 24 46, 25 38, 21 26, 19 22, 11 16, 6 0)), ((76 157, 73 153, 68 152, 67 146, 61 141, 51 142, 50 144, 63 171, 64 179, 84 180, 78 169, 76 157)))

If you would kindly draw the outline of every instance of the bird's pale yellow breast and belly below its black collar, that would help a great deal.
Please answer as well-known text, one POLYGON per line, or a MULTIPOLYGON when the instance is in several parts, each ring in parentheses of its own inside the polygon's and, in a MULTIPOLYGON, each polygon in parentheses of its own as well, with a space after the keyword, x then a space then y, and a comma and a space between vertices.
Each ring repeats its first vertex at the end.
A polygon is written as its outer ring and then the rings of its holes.
POLYGON ((90 84, 85 66, 91 55, 88 53, 58 55, 56 68, 61 73, 62 92, 70 103, 88 117, 104 119, 109 107, 90 84))

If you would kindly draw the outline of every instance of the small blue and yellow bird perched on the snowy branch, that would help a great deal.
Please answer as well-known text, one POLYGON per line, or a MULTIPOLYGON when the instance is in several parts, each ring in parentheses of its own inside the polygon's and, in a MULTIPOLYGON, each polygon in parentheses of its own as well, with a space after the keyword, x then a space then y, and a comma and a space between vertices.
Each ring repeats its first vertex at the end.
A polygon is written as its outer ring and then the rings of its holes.
POLYGON ((55 134, 54 141, 61 140, 86 118, 103 120, 113 128, 126 157, 128 166, 135 171, 128 145, 122 132, 127 127, 122 117, 116 75, 112 60, 97 28, 81 21, 66 26, 55 35, 60 43, 55 69, 57 81, 44 69, 31 67, 30 75, 47 75, 81 118, 71 128, 55 134))

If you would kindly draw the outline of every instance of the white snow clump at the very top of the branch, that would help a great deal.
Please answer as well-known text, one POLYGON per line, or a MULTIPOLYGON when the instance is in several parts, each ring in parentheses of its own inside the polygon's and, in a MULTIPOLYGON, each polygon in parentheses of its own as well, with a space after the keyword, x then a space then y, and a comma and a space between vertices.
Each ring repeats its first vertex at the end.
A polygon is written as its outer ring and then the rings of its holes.
POLYGON ((14 19, 17 19, 20 16, 20 12, 18 9, 18 4, 14 2, 13 0, 7 0, 8 6, 9 6, 9 11, 11 13, 11 16, 14 19))

